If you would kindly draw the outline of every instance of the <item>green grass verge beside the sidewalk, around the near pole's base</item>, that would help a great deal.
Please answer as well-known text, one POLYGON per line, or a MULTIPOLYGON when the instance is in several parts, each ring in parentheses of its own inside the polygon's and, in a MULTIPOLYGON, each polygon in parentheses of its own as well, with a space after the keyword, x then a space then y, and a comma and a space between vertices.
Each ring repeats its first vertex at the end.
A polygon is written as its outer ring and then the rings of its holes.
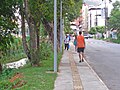
MULTIPOLYGON (((58 65, 61 56, 61 53, 58 53, 58 65)), ((42 60, 40 67, 31 67, 27 64, 20 68, 18 71, 23 73, 24 81, 27 83, 16 90, 53 90, 57 77, 57 73, 53 73, 53 63, 53 55, 51 55, 47 60, 42 60)))

